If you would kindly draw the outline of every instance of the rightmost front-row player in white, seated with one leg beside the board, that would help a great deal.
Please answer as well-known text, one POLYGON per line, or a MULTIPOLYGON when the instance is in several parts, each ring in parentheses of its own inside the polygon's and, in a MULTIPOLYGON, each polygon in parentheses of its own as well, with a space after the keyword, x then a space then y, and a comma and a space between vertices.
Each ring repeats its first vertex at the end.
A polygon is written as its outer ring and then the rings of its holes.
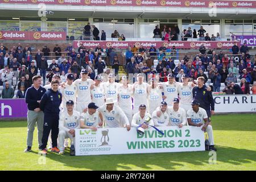
POLYGON ((209 125, 207 111, 199 107, 200 104, 197 100, 193 100, 191 105, 192 109, 189 109, 187 112, 188 125, 197 127, 201 127, 203 125, 202 130, 204 132, 207 131, 209 137, 209 149, 216 151, 216 148, 214 148, 212 126, 209 125))

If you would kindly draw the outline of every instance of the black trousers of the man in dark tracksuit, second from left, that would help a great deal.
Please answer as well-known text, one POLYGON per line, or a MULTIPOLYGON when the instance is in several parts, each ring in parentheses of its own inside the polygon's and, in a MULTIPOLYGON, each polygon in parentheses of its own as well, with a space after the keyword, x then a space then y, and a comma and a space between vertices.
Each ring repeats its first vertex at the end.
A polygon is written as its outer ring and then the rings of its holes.
POLYGON ((52 147, 57 147, 57 138, 59 135, 59 114, 55 113, 44 113, 44 127, 43 127, 43 137, 42 146, 40 148, 44 149, 47 146, 49 133, 52 130, 52 147))

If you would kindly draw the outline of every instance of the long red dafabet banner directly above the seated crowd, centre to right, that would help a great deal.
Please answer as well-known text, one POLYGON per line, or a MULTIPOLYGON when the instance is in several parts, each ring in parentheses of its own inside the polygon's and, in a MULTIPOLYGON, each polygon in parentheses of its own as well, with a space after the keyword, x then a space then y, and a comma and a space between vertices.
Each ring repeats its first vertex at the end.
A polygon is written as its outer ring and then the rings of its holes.
MULTIPOLYGON (((167 47, 172 48, 175 46, 176 48, 184 48, 184 49, 199 49, 201 44, 204 44, 206 48, 222 48, 222 49, 230 49, 234 46, 234 42, 228 41, 171 41, 171 42, 164 42, 164 41, 90 41, 90 40, 76 40, 73 41, 73 47, 79 48, 80 44, 83 44, 85 47, 96 47, 96 46, 105 46, 119 49, 126 49, 128 46, 139 48, 141 45, 144 48, 150 48, 152 45, 155 48, 159 47, 167 47)), ((240 42, 237 42, 238 46, 240 46, 240 42)))

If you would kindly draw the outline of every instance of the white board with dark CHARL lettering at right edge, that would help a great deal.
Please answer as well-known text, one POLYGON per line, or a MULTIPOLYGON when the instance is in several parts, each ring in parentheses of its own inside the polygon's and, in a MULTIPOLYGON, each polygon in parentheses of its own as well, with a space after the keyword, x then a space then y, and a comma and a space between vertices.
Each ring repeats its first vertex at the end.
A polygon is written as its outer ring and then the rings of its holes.
POLYGON ((256 95, 213 95, 213 99, 216 113, 256 113, 256 95))

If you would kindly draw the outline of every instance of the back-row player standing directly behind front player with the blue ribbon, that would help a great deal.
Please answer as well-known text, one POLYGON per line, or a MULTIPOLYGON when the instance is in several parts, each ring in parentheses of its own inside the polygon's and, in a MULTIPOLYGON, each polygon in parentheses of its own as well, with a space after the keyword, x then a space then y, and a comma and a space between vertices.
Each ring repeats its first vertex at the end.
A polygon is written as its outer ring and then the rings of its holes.
POLYGON ((133 98, 134 98, 134 107, 133 107, 133 114, 138 113, 140 105, 147 106, 147 95, 148 90, 150 90, 150 85, 146 82, 143 82, 144 76, 139 73, 137 75, 138 82, 133 84, 133 98))

